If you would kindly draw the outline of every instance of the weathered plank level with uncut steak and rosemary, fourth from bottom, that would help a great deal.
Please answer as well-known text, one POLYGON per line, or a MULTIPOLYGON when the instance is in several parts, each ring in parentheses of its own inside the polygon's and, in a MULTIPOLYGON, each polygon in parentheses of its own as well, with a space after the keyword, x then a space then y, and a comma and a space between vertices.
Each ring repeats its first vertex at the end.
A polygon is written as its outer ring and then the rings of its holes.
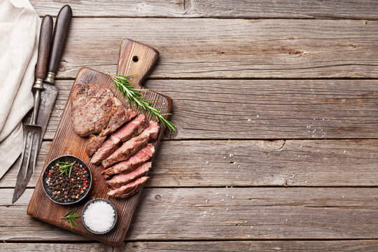
MULTIPOLYGON (((72 83, 57 81, 45 139, 54 137, 72 83)), ((146 87, 174 100, 174 139, 378 137, 378 80, 148 80, 146 87)))

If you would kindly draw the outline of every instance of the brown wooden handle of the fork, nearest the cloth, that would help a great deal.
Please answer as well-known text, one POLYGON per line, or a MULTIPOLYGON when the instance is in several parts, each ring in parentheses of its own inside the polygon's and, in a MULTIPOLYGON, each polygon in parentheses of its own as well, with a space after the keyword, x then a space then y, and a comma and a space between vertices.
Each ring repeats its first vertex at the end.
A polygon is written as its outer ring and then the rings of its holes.
POLYGON ((48 62, 48 55, 50 53, 52 35, 52 18, 50 15, 45 15, 41 23, 41 31, 39 33, 38 44, 38 59, 36 64, 36 78, 45 78, 46 68, 48 62))

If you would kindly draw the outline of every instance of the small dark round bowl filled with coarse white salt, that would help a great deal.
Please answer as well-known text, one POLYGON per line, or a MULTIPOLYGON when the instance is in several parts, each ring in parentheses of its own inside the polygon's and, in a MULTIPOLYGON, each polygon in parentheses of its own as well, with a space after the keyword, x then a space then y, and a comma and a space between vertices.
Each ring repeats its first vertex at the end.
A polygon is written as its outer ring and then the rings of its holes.
POLYGON ((94 232, 106 232, 111 229, 116 218, 111 204, 97 201, 91 203, 83 214, 83 221, 94 232))

